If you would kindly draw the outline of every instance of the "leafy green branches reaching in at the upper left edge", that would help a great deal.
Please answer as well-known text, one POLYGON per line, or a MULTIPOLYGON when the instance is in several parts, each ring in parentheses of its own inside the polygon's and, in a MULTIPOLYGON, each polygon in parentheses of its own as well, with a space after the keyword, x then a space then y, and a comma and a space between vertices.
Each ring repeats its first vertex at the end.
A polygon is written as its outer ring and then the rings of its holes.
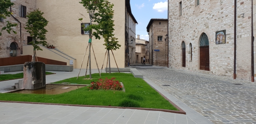
MULTIPOLYGON (((6 17, 10 17, 12 12, 8 11, 8 8, 10 6, 13 6, 14 3, 11 2, 11 0, 0 0, 0 19, 6 19, 6 17)), ((18 24, 12 24, 9 21, 6 21, 7 24, 0 30, 0 36, 2 35, 2 31, 6 30, 8 33, 17 33, 16 31, 12 30, 12 27, 18 26, 18 24)))

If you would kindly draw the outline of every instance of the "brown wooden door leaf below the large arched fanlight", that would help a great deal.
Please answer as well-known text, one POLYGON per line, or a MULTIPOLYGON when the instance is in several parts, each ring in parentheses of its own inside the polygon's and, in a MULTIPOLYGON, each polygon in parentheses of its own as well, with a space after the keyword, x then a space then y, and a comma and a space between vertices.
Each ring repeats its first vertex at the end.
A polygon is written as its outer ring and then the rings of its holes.
POLYGON ((200 70, 210 71, 209 46, 200 47, 200 70))

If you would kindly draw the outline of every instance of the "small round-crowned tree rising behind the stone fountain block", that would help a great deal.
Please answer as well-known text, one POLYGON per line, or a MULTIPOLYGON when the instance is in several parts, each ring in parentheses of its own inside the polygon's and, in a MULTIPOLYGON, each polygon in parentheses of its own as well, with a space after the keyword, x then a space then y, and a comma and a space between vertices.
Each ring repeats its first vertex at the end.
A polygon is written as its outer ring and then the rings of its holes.
POLYGON ((28 22, 26 22, 26 30, 28 33, 30 33, 30 36, 33 38, 33 41, 30 42, 30 44, 34 47, 34 55, 32 57, 32 61, 36 61, 36 50, 42 50, 38 44, 46 45, 46 32, 48 32, 46 29, 44 29, 45 26, 47 26, 48 21, 42 16, 44 12, 39 11, 38 9, 34 10, 33 12, 30 12, 27 15, 28 22))

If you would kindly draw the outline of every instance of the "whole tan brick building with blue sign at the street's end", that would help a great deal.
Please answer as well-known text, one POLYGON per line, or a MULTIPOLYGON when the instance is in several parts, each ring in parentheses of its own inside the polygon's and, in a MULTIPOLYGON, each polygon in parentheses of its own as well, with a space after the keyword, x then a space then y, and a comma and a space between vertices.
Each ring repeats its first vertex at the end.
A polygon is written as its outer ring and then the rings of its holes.
POLYGON ((168 66, 168 20, 152 18, 147 26, 149 35, 149 63, 157 66, 168 66))

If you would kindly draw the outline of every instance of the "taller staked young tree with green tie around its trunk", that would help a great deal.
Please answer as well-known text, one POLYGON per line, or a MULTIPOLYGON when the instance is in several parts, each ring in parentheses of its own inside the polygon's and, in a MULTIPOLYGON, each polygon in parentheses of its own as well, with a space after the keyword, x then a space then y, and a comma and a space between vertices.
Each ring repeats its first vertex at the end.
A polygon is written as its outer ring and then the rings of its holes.
MULTIPOLYGON (((89 31, 89 75, 90 79, 92 78, 91 73, 91 44, 92 44, 92 37, 94 36, 96 39, 100 39, 99 31, 102 30, 100 26, 100 22, 102 22, 102 9, 104 9, 104 6, 108 4, 107 0, 82 0, 82 2, 79 2, 80 4, 83 4, 84 8, 87 10, 87 13, 90 17, 90 25, 85 27, 82 26, 84 31, 89 31)), ((82 22, 83 18, 79 18, 82 22)), ((94 56, 95 57, 95 56, 94 56)), ((96 59, 96 57, 95 57, 96 59)), ((83 63, 83 61, 82 61, 83 63)), ((97 65, 98 66, 98 65, 97 65)), ((82 64, 81 64, 82 68, 82 64)), ((80 71, 79 71, 80 73, 80 71)), ((78 75, 79 75, 78 73, 78 75)), ((99 72, 100 73, 100 72, 99 72)))

